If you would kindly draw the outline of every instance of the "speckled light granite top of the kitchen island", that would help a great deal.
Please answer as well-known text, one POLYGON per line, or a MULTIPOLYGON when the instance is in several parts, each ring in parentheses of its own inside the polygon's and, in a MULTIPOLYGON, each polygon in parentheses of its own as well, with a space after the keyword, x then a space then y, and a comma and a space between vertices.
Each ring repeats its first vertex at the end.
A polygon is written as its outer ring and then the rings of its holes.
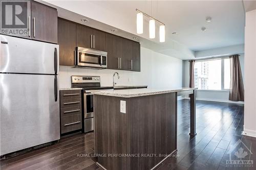
POLYGON ((101 90, 101 91, 93 91, 92 93, 98 94, 98 95, 116 96, 120 98, 134 98, 134 97, 145 96, 145 95, 164 94, 164 93, 196 90, 196 89, 197 88, 176 88, 176 89, 140 88, 140 89, 126 89, 126 90, 101 90))

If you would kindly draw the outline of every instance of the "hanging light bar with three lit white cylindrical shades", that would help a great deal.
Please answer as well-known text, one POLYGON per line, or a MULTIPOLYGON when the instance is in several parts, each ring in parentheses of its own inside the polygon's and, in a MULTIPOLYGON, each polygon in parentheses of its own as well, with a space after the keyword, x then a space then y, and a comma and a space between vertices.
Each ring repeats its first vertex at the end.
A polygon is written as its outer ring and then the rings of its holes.
POLYGON ((157 21, 160 23, 159 27, 159 41, 164 42, 165 41, 165 24, 155 18, 153 18, 150 15, 147 15, 146 13, 136 9, 137 13, 137 34, 143 33, 143 15, 150 18, 150 38, 156 37, 156 27, 155 22, 157 21))

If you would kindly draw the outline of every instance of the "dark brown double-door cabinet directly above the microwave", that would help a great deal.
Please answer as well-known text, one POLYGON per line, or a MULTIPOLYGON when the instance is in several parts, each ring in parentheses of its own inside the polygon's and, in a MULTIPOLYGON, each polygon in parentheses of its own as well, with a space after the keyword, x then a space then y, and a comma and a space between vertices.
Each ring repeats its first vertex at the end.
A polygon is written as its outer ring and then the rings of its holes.
POLYGON ((105 33, 77 24, 76 45, 84 48, 105 51, 105 33))

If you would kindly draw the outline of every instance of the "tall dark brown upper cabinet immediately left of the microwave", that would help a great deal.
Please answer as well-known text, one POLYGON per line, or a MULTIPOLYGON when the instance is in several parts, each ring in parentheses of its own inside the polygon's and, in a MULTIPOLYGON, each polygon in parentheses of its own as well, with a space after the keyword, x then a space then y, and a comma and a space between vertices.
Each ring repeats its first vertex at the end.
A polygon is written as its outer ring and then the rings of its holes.
POLYGON ((58 18, 59 65, 74 66, 76 23, 58 18))

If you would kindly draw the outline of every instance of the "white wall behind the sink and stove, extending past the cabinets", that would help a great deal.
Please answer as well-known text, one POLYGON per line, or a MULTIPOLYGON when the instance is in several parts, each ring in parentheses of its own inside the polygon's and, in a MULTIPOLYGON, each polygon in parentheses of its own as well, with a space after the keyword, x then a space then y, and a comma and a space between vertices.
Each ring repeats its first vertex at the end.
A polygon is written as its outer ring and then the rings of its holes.
POLYGON ((116 78, 117 85, 147 85, 148 88, 182 87, 182 60, 141 47, 140 72, 60 66, 59 88, 71 87, 72 75, 100 76, 101 86, 112 86, 115 71, 120 76, 119 80, 116 78))

